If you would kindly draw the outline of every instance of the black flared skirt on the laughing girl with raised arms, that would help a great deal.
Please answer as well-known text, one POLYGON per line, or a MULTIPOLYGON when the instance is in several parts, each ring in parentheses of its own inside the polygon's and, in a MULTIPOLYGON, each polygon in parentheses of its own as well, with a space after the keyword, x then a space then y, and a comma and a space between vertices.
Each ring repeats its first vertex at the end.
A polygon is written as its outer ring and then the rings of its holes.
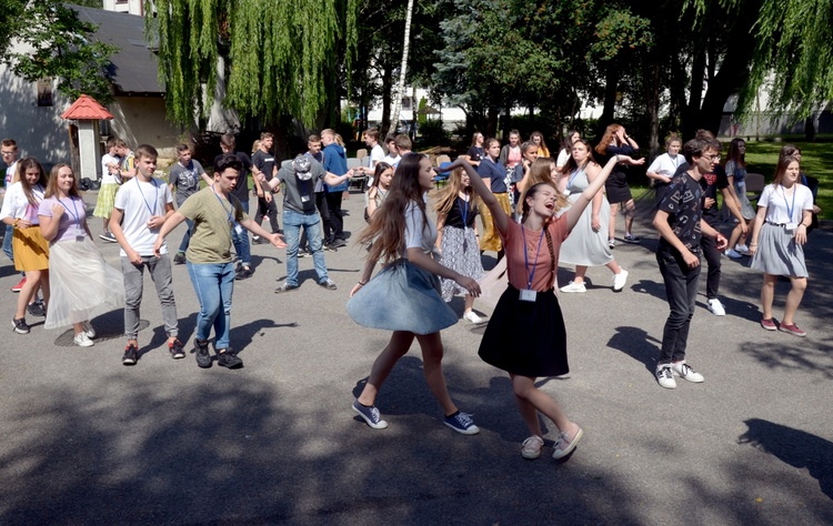
POLYGON ((566 330, 552 289, 521 301, 509 285, 489 321, 478 352, 483 362, 521 376, 560 376, 566 363, 566 330))

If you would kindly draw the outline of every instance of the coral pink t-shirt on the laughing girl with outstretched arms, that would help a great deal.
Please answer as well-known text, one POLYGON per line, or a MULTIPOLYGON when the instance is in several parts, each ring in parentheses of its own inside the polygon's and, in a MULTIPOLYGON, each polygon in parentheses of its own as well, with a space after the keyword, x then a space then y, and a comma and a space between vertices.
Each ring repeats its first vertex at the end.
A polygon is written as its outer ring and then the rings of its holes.
MULTIPOLYGON (((570 235, 570 232, 566 230, 566 214, 561 214, 560 218, 552 221, 548 225, 548 230, 552 236, 552 250, 555 255, 555 269, 558 270, 561 243, 563 243, 566 236, 570 235)), ((519 291, 526 289, 530 272, 534 267, 532 290, 538 292, 550 290, 552 286, 551 283, 553 282, 553 265, 552 259, 550 257, 550 249, 546 246, 544 232, 526 230, 521 224, 510 221, 506 226, 506 232, 499 233, 506 251, 509 283, 519 291), (523 255, 524 237, 526 240, 526 261, 529 261, 529 267, 526 266, 523 255), (541 247, 540 250, 539 243, 541 247), (538 263, 535 263, 535 253, 538 253, 538 263)))

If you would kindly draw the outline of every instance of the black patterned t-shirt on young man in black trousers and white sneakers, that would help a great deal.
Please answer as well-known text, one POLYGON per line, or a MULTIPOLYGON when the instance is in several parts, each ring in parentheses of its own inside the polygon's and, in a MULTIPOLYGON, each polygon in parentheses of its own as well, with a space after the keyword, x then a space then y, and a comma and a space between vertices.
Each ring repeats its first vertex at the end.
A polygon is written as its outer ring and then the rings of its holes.
MULTIPOLYGON (((688 172, 674 175, 660 202, 660 210, 669 214, 669 225, 682 243, 694 253, 700 252, 700 219, 703 214, 703 186, 688 172)), ((675 250, 660 239, 661 250, 675 250)))

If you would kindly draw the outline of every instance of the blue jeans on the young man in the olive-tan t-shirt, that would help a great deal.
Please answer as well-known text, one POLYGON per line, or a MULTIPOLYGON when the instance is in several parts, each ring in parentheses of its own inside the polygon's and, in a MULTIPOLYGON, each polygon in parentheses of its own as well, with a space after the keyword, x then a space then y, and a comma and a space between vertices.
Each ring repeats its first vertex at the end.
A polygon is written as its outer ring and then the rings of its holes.
POLYGON ((205 341, 214 327, 214 348, 229 348, 231 331, 231 295, 234 292, 232 263, 191 263, 188 275, 200 302, 197 314, 197 340, 205 341), (221 312, 222 310, 222 312, 221 312))

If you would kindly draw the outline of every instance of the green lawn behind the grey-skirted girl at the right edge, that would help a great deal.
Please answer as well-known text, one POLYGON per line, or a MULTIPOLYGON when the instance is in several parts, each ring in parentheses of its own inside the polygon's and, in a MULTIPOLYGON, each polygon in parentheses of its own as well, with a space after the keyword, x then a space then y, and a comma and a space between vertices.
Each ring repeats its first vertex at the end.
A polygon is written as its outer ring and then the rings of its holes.
MULTIPOLYGON (((779 161, 781 146, 786 142, 747 142, 746 171, 762 173, 766 182, 772 182, 779 161)), ((801 149, 801 171, 819 179, 816 203, 821 209, 821 219, 833 219, 833 143, 831 142, 791 142, 801 149)), ((723 155, 727 146, 723 149, 723 155)))

